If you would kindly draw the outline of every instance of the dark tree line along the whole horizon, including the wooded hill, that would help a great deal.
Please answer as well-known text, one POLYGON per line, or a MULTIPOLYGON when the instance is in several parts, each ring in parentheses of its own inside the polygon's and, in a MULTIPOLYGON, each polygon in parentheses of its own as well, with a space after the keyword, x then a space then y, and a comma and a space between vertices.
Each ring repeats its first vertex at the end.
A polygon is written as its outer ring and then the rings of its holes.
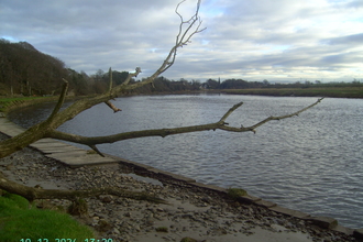
MULTIPOLYGON (((53 56, 38 52, 26 42, 11 43, 0 40, 0 96, 53 96, 62 89, 62 78, 69 81, 68 95, 87 96, 103 94, 109 88, 110 74, 114 86, 122 84, 128 72, 97 70, 92 75, 85 72, 76 72, 53 56)), ((132 78, 131 84, 143 81, 132 78)), ((249 88, 309 88, 309 87, 345 87, 363 86, 360 79, 352 82, 321 82, 320 80, 296 81, 289 84, 263 81, 248 81, 243 79, 209 78, 205 82, 199 80, 170 80, 160 76, 153 85, 142 86, 128 91, 128 94, 153 94, 153 92, 183 92, 200 89, 249 89, 249 88)))

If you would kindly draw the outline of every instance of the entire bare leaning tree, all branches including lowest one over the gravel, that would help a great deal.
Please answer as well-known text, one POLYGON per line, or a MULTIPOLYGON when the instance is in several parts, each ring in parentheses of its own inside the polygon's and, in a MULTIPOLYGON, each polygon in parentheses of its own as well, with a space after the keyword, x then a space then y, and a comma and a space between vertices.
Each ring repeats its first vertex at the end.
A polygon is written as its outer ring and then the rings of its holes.
MULTIPOLYGON (((184 0, 185 1, 185 0, 184 0)), ((252 127, 229 127, 229 124, 226 122, 227 118, 239 107, 242 106, 242 102, 234 105, 231 109, 229 109, 226 114, 217 122, 215 123, 207 123, 201 125, 191 125, 191 127, 182 127, 182 128, 174 128, 174 129, 156 129, 156 130, 143 130, 143 131, 134 131, 134 132, 125 132, 125 133, 119 133, 113 134, 109 136, 94 136, 94 138, 86 138, 80 135, 75 135, 70 133, 64 133, 59 132, 56 129, 65 123, 66 121, 75 118, 77 114, 82 112, 86 109, 89 109, 94 107, 95 105, 105 102, 107 103, 114 112, 120 111, 119 108, 113 106, 110 100, 117 98, 121 92, 127 90, 132 90, 135 88, 139 88, 144 85, 153 85, 153 80, 160 76, 162 73, 167 70, 176 59, 177 51, 187 45, 191 37, 204 31, 205 29, 201 29, 202 21, 199 18, 199 8, 200 8, 200 0, 197 1, 197 7, 194 15, 191 15, 188 20, 185 20, 182 14, 179 13, 179 7, 184 2, 179 2, 175 9, 176 14, 180 18, 180 24, 179 30, 176 35, 175 45, 170 48, 168 55, 160 66, 160 68, 151 75, 148 78, 141 82, 130 84, 130 80, 132 77, 136 77, 141 73, 141 68, 136 67, 134 73, 130 73, 128 78, 124 82, 112 87, 112 79, 110 79, 109 89, 107 92, 102 95, 98 95, 96 97, 89 97, 81 100, 78 100, 74 102, 72 106, 69 106, 67 109, 61 111, 61 107, 64 103, 68 82, 64 80, 63 89, 61 97, 58 99, 58 102, 56 103, 53 112, 51 116, 43 122, 35 124, 24 131, 23 133, 13 136, 11 139, 8 139, 0 143, 0 158, 6 157, 10 154, 12 154, 15 151, 19 151, 31 143, 44 139, 44 138, 53 138, 58 139, 63 141, 70 141, 74 143, 79 144, 86 144, 92 150, 95 150, 98 154, 102 155, 96 145, 101 143, 113 143, 118 141, 123 141, 128 139, 136 139, 136 138, 145 138, 145 136, 162 136, 165 138, 167 135, 173 134, 180 134, 180 133, 188 133, 188 132, 198 132, 198 131, 207 131, 207 130, 224 130, 229 132, 246 132, 252 131, 255 132, 255 129, 260 125, 263 125, 264 123, 272 121, 272 120, 282 120, 287 119, 294 116, 298 116, 300 112, 316 106, 318 102, 321 101, 319 99, 317 102, 310 105, 309 107, 306 107, 297 112, 282 116, 282 117, 270 117, 261 122, 257 122, 256 124, 252 127)), ((111 73, 111 69, 110 69, 111 73)), ((111 75, 112 76, 112 75, 111 75)), ((29 200, 33 199, 43 199, 43 198, 66 198, 66 199, 75 199, 76 197, 89 197, 89 196, 96 196, 100 194, 112 194, 116 196, 122 196, 122 197, 129 197, 134 199, 148 199, 154 201, 162 201, 160 199, 156 199, 152 196, 148 196, 143 193, 133 193, 133 191, 125 191, 125 190, 117 190, 114 188, 106 188, 106 189, 90 189, 90 190, 45 190, 45 189, 34 189, 31 187, 26 187, 23 185, 19 185, 16 183, 10 182, 0 174, 0 188, 8 190, 13 194, 21 195, 29 200)))

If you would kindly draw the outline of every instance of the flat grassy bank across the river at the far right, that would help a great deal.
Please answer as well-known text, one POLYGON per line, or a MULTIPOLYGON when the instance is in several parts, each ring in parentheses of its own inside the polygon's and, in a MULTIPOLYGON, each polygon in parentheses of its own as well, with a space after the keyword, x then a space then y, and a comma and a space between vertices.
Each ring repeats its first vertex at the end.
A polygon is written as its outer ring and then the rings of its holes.
POLYGON ((224 89, 221 91, 231 95, 363 98, 363 87, 260 88, 260 89, 224 89))

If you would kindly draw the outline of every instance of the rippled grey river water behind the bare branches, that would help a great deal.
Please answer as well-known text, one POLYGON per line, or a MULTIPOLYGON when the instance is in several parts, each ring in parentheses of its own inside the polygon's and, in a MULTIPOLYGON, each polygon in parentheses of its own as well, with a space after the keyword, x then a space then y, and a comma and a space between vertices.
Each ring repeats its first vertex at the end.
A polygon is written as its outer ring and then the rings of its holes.
MULTIPOLYGON (((114 101, 122 112, 98 105, 58 130, 107 135, 144 129, 227 120, 252 125, 283 116, 318 98, 233 95, 136 96, 114 101)), ((25 108, 10 119, 23 127, 43 120, 53 105, 25 108)), ((143 138, 99 145, 108 154, 221 187, 240 187, 253 196, 312 216, 363 228, 363 100, 326 98, 298 117, 271 121, 252 132, 204 131, 143 138)))

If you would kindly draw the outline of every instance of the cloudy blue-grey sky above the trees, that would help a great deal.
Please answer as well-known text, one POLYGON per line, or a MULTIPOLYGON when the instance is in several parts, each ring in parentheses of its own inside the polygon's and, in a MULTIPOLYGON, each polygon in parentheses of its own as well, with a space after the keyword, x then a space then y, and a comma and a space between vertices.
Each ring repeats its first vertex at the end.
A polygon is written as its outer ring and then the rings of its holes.
MULTIPOLYGON (((0 37, 95 74, 152 74, 175 42, 179 0, 0 0, 0 37)), ((194 14, 196 0, 180 13, 194 14)), ((363 0, 201 0, 206 31, 169 79, 363 80, 363 0)))

